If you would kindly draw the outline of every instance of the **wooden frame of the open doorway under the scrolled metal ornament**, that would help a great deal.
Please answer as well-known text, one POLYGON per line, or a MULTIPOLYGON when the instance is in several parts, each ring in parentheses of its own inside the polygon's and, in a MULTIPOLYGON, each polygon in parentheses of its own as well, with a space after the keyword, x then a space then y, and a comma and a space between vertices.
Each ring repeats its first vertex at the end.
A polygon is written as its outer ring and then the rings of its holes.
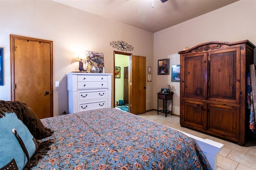
MULTIPOLYGON (((128 107, 129 107, 129 110, 128 111, 131 111, 131 86, 130 86, 130 82, 131 82, 131 75, 132 75, 132 67, 131 67, 131 63, 132 63, 132 54, 131 53, 124 53, 124 52, 120 52, 120 51, 114 51, 114 73, 115 73, 115 66, 116 66, 116 54, 120 54, 120 55, 127 55, 129 56, 129 74, 128 74, 128 82, 129 82, 129 88, 128 88, 128 107)), ((116 101, 116 79, 115 79, 115 76, 114 77, 114 107, 115 107, 115 101, 116 101)))

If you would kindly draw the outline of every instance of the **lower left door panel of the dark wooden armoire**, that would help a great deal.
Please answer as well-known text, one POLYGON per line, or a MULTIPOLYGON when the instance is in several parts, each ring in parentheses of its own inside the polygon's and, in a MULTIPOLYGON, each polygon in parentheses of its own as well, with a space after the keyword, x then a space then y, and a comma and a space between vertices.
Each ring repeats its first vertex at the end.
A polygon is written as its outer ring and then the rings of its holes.
POLYGON ((183 100, 182 106, 182 123, 193 127, 199 127, 201 129, 206 129, 207 105, 205 103, 183 100))

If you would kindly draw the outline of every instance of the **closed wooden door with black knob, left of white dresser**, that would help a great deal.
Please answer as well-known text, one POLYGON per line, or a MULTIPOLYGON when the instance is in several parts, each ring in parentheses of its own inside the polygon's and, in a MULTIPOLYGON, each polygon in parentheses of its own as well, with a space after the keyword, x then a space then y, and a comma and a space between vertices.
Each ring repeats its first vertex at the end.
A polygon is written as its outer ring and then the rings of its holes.
POLYGON ((53 116, 52 41, 10 35, 12 101, 42 119, 53 116))

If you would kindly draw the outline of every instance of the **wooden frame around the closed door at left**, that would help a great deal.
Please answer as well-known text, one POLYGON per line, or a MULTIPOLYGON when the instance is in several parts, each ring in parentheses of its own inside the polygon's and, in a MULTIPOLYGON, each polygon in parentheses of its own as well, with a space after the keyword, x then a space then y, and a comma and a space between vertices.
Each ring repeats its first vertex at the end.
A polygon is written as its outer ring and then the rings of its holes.
POLYGON ((14 39, 23 39, 28 41, 38 41, 43 43, 49 43, 50 44, 50 116, 53 116, 53 41, 44 40, 44 39, 36 39, 31 37, 23 37, 19 35, 10 35, 10 70, 11 70, 11 101, 14 101, 15 99, 15 93, 14 93, 14 39))

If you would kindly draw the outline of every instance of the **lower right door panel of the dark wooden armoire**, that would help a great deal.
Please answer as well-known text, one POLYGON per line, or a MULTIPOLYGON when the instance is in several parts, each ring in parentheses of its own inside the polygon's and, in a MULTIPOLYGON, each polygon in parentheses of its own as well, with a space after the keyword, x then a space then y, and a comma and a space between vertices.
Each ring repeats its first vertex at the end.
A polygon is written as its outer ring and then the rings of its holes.
POLYGON ((208 130, 239 138, 239 107, 208 104, 208 110, 208 130))

